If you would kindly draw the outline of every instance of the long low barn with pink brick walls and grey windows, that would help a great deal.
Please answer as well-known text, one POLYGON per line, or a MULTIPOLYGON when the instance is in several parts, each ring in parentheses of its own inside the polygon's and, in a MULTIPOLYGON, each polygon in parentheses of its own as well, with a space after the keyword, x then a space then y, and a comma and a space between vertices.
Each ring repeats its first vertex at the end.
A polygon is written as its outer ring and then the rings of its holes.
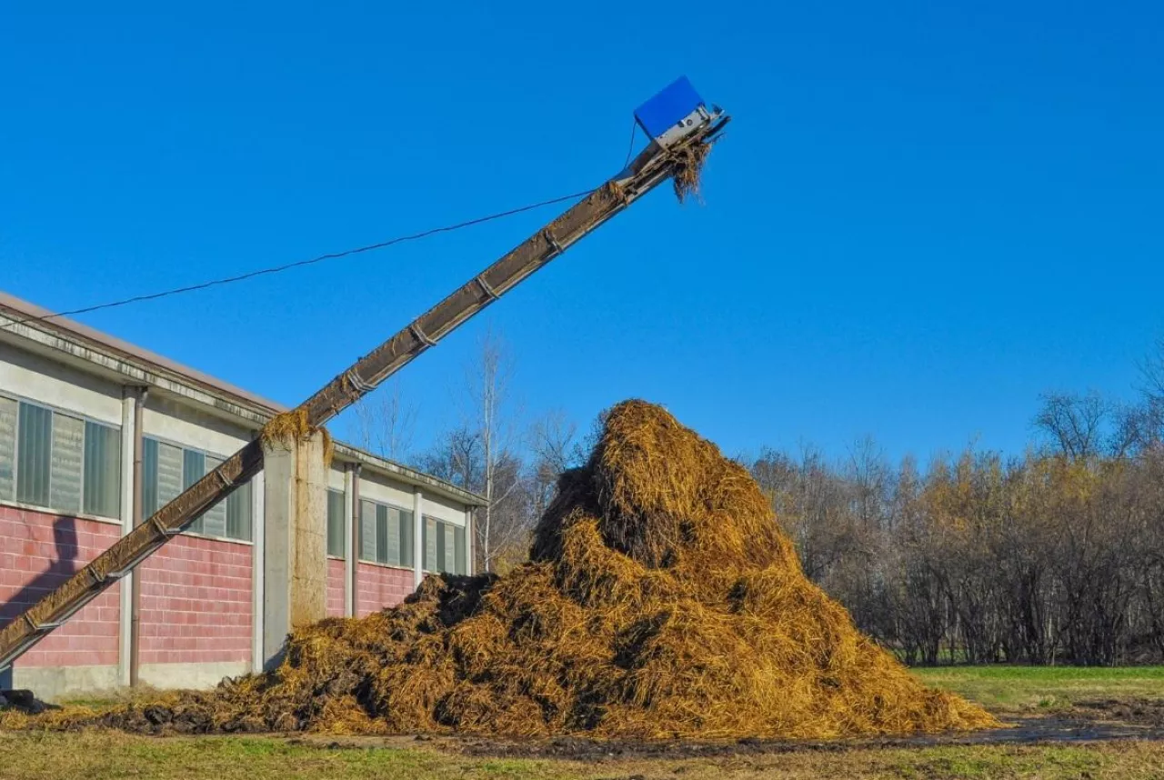
MULTIPOLYGON (((35 319, 48 313, 0 293, 0 625, 127 533, 135 510, 148 518, 285 411, 77 322, 35 319)), ((426 572, 471 573, 478 496, 342 442, 326 480, 327 615, 397 604, 426 572)), ((0 673, 0 687, 54 699, 261 669, 271 593, 286 590, 264 559, 277 523, 260 474, 0 673)))

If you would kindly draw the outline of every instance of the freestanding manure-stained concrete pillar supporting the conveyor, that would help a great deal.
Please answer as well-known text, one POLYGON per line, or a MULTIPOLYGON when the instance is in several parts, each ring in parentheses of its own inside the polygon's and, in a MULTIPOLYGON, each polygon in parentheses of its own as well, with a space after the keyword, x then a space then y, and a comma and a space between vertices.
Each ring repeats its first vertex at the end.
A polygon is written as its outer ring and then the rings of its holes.
POLYGON ((324 434, 263 448, 263 664, 286 636, 327 616, 327 465, 324 434))

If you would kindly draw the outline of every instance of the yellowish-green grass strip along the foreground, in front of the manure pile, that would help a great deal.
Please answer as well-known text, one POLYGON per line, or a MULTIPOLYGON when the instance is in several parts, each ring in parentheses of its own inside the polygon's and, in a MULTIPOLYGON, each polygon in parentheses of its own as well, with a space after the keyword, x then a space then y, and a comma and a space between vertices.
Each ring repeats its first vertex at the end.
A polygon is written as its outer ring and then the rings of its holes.
POLYGON ((108 731, 0 733, 0 777, 6 780, 837 780, 896 778, 944 780, 1066 780, 1164 774, 1164 745, 943 746, 854 749, 683 760, 577 761, 468 758, 427 747, 340 747, 281 738, 150 738, 108 731))

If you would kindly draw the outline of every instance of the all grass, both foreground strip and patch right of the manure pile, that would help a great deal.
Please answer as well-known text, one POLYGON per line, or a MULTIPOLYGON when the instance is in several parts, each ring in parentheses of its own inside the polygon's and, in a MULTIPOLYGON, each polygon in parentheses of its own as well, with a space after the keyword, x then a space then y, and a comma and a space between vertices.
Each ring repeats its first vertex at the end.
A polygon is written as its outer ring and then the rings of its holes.
MULTIPOLYGON (((1164 667, 1031 668, 1016 666, 916 669, 946 688, 1006 715, 1037 714, 1090 699, 1164 699, 1164 667)), ((90 707, 101 701, 86 701, 90 707)), ((111 731, 0 733, 3 780, 268 780, 348 778, 453 780, 1066 780, 1164 777, 1164 743, 973 745, 837 752, 738 754, 709 759, 567 760, 470 758, 426 743, 331 747, 279 737, 151 738, 111 731)))

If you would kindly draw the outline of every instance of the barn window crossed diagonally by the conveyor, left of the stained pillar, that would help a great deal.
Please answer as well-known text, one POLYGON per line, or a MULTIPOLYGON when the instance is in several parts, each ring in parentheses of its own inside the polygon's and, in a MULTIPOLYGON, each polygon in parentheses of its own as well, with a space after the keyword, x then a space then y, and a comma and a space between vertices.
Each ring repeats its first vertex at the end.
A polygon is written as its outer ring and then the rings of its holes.
MULTIPOLYGON (((142 516, 154 515, 221 462, 221 459, 204 452, 146 437, 142 441, 142 516)), ((250 541, 250 483, 235 489, 226 501, 212 506, 186 530, 208 537, 250 541)))

